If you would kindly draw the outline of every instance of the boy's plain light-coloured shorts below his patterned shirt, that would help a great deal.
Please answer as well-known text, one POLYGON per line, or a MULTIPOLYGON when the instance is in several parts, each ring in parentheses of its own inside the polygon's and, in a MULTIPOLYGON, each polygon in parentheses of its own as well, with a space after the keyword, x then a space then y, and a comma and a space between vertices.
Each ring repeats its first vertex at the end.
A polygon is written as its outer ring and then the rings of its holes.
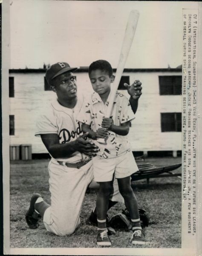
POLYGON ((95 156, 92 158, 92 162, 96 182, 111 181, 113 175, 116 179, 125 178, 139 171, 131 150, 115 158, 101 159, 99 156, 95 156))

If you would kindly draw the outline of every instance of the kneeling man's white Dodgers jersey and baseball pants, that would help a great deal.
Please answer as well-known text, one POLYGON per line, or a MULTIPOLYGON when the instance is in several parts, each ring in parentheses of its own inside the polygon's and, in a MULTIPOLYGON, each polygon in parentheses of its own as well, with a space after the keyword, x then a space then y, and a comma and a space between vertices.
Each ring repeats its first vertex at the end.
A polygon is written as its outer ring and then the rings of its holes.
MULTIPOLYGON (((40 115, 35 136, 41 134, 58 134, 61 144, 74 141, 82 134, 81 123, 77 120, 81 110, 83 96, 78 95, 74 109, 61 106, 55 99, 47 113, 40 115)), ((87 186, 93 179, 92 160, 81 152, 75 152, 68 158, 52 159, 49 162, 49 191, 51 206, 46 209, 43 223, 46 229, 56 235, 72 234, 80 223, 80 212, 87 186), (67 167, 65 163, 73 164, 87 162, 81 168, 67 167)), ((123 203, 123 197, 118 191, 115 180, 113 201, 123 203)))

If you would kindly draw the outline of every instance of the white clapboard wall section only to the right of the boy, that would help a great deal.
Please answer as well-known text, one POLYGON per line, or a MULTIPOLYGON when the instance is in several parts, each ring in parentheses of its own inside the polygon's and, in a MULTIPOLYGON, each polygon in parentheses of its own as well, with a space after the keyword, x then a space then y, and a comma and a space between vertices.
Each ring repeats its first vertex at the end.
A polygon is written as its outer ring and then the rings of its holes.
MULTIPOLYGON (((181 132, 161 132, 161 114, 182 112, 181 95, 159 95, 159 76, 180 75, 179 72, 125 73, 130 82, 142 82, 142 95, 136 119, 130 127, 130 144, 133 151, 182 150, 181 132)), ((125 95, 127 93, 124 92, 125 95)))

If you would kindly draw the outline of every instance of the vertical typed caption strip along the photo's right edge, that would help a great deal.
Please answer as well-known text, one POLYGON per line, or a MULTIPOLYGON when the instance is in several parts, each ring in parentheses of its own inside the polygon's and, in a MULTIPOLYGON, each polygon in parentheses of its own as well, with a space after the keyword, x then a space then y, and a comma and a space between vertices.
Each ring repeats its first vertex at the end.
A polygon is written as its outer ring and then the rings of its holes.
POLYGON ((199 10, 183 9, 182 247, 196 247, 199 10))

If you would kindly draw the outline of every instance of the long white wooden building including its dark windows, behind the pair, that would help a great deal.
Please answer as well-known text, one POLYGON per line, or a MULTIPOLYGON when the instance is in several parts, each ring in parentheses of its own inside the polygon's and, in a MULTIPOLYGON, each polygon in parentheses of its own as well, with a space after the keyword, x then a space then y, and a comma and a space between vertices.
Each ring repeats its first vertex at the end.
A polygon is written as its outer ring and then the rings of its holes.
MULTIPOLYGON (((92 91, 88 68, 80 67, 75 76, 78 91, 92 91)), ((10 144, 32 144, 32 153, 47 153, 40 138, 35 137, 38 114, 55 97, 45 80, 46 69, 11 69, 9 71, 10 144)), ((114 70, 115 74, 115 70, 114 70)), ((123 83, 139 79, 143 94, 136 119, 132 121, 129 138, 133 151, 145 155, 182 150, 182 69, 125 69, 119 89, 127 95, 123 83)))

